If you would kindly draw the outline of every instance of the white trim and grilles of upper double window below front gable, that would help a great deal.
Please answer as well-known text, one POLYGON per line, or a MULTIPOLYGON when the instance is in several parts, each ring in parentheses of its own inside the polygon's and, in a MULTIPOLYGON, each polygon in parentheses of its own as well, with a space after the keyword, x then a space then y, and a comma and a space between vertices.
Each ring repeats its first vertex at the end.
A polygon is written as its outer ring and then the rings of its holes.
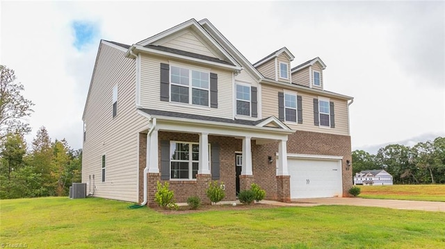
POLYGON ((208 110, 210 108, 210 69, 204 68, 204 67, 195 67, 195 66, 190 66, 190 65, 185 65, 185 64, 181 64, 181 63, 177 63, 177 62, 169 62, 169 71, 168 71, 168 91, 169 91, 169 101, 172 104, 175 105, 188 105, 190 107, 197 107, 197 108, 205 108, 206 110, 208 110), (182 69, 187 69, 188 70, 188 85, 181 85, 181 84, 177 84, 177 83, 172 83, 172 67, 179 67, 182 69), (200 71, 202 73, 207 73, 209 75, 209 88, 205 89, 202 87, 193 87, 192 85, 192 71, 200 71), (176 102, 176 101, 172 101, 172 85, 177 85, 179 87, 188 87, 188 103, 182 103, 182 102, 176 102), (193 104, 193 88, 195 89, 202 89, 202 90, 207 90, 207 92, 209 92, 208 96, 209 96, 209 102, 208 105, 195 105, 193 104))

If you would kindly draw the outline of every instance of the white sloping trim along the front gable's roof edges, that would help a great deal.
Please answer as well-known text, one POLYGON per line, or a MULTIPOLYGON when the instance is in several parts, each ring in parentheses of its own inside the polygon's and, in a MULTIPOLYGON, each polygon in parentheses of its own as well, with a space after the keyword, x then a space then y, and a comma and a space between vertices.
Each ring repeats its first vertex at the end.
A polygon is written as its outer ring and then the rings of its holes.
POLYGON ((178 24, 177 26, 173 26, 172 28, 168 28, 167 30, 162 31, 161 33, 157 33, 156 35, 153 35, 151 37, 148 37, 147 39, 142 40, 136 44, 133 44, 131 47, 129 47, 129 51, 125 56, 127 57, 132 56, 131 51, 133 51, 133 49, 138 46, 146 47, 147 45, 156 45, 154 44, 155 42, 158 42, 159 40, 165 37, 169 37, 170 35, 174 35, 175 33, 183 31, 186 28, 192 28, 193 31, 197 33, 197 35, 200 35, 200 37, 209 42, 209 44, 211 44, 213 49, 216 49, 218 53, 223 55, 225 60, 227 60, 227 62, 229 62, 230 65, 241 67, 241 65, 239 65, 239 63, 232 57, 232 55, 227 53, 227 51, 225 51, 223 46, 221 46, 200 24, 198 24, 194 18, 189 19, 188 21, 183 22, 181 24, 178 24))

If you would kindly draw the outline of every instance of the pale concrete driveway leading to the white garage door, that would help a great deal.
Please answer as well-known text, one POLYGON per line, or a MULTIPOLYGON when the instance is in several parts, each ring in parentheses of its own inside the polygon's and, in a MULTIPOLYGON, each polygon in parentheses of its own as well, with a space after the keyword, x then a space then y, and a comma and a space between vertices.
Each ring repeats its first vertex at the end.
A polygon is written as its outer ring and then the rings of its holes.
POLYGON ((421 210, 445 212, 445 202, 421 200, 382 200, 364 198, 308 198, 293 199, 292 203, 279 203, 271 200, 261 200, 261 203, 280 206, 312 207, 318 205, 352 205, 364 207, 387 207, 394 209, 421 210))

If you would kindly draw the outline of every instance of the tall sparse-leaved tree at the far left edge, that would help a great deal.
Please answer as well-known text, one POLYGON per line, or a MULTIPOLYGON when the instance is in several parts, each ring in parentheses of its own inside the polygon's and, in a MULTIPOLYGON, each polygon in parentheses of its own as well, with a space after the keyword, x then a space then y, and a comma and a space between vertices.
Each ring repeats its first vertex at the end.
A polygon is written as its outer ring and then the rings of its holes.
POLYGON ((8 133, 26 134, 31 131, 24 117, 30 116, 34 105, 22 96, 22 83, 15 83, 14 70, 0 65, 0 139, 8 133))

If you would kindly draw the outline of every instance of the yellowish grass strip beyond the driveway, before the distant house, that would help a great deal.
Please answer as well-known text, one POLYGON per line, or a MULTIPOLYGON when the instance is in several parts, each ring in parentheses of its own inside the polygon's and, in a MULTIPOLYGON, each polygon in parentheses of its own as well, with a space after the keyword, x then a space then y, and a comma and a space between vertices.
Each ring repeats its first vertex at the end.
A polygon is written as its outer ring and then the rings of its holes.
POLYGON ((445 184, 358 186, 359 197, 394 200, 445 201, 445 184))

